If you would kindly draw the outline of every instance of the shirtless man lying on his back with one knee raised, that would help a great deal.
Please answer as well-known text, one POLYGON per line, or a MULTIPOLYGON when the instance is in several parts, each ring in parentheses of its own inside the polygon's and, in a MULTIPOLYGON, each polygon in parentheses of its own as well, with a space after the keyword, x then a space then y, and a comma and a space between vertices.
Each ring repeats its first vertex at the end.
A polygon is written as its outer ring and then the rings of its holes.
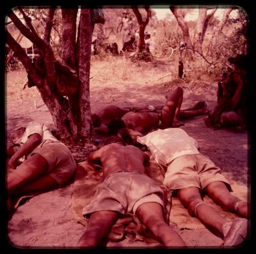
POLYGON ((184 123, 178 120, 179 118, 191 118, 202 114, 207 114, 207 105, 204 101, 200 101, 194 107, 181 111, 181 103, 183 100, 183 89, 177 87, 173 92, 166 95, 166 103, 161 109, 161 114, 158 112, 146 112, 140 108, 142 112, 130 111, 122 116, 121 119, 115 118, 108 124, 110 133, 117 134, 122 128, 132 129, 134 131, 145 134, 151 130, 158 128, 161 122, 161 129, 178 127, 184 123))

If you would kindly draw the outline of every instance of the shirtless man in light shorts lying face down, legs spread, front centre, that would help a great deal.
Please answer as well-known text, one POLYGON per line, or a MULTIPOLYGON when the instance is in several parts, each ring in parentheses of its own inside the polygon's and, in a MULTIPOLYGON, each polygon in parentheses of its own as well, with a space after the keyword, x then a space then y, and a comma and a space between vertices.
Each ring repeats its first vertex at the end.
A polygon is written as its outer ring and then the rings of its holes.
POLYGON ((90 219, 77 246, 101 245, 118 216, 125 213, 136 214, 165 246, 185 246, 164 220, 164 193, 145 174, 145 153, 132 145, 112 143, 91 153, 87 161, 102 165, 103 176, 92 201, 83 208, 83 216, 90 219))

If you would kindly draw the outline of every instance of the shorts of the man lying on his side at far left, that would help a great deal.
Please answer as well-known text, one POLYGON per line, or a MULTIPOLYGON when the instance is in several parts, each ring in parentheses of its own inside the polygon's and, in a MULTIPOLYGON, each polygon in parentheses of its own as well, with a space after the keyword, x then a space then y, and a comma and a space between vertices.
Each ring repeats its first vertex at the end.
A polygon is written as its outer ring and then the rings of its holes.
POLYGON ((65 184, 76 169, 71 151, 60 142, 47 143, 34 150, 33 154, 38 154, 47 160, 47 173, 58 182, 59 186, 65 184))

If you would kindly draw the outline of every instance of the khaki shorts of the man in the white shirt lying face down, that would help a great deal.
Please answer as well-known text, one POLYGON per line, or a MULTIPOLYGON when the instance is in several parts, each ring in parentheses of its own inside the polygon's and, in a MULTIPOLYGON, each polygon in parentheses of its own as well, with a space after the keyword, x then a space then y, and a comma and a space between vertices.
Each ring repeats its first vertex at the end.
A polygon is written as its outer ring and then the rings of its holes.
POLYGON ((172 161, 164 176, 163 184, 172 190, 188 187, 198 187, 203 190, 208 184, 216 181, 226 183, 231 190, 228 180, 217 167, 204 155, 183 155, 172 161))

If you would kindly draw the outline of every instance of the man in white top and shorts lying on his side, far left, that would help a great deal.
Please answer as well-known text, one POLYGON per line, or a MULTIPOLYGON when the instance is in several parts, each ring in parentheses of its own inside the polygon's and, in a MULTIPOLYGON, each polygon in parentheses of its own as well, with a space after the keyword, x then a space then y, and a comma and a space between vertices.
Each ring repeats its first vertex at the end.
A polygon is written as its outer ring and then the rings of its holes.
POLYGON ((11 133, 13 145, 7 148, 8 210, 12 197, 48 191, 65 184, 73 175, 76 162, 69 148, 57 140, 44 123, 29 122, 11 133), (20 159, 25 161, 20 164, 20 159), (20 165, 18 165, 20 164, 20 165))

